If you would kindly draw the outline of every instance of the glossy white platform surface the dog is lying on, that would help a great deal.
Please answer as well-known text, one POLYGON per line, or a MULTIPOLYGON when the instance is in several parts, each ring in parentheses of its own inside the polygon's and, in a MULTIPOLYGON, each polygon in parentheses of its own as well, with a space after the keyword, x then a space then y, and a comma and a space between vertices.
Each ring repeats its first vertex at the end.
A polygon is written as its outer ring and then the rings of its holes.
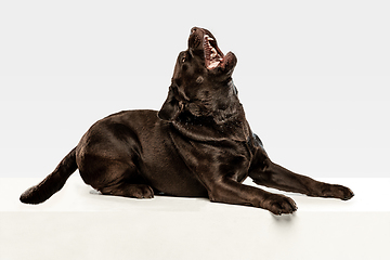
POLYGON ((29 206, 18 196, 40 180, 0 179, 0 260, 389 259, 390 179, 322 180, 355 197, 287 194, 298 212, 275 217, 200 198, 102 196, 74 174, 29 206))

